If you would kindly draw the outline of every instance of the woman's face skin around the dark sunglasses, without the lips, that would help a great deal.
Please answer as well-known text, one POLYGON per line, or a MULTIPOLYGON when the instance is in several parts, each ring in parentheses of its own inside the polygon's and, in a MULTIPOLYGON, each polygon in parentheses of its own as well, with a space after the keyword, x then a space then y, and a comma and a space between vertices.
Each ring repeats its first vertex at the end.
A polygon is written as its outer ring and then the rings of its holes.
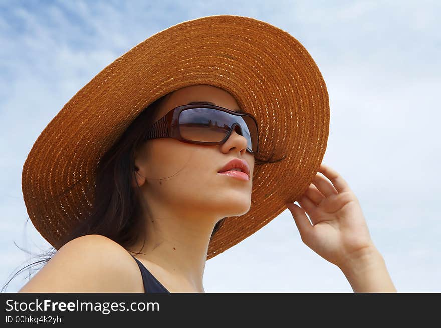
MULTIPOLYGON (((166 98, 154 121, 177 106, 195 101, 239 109, 233 96, 223 89, 193 85, 166 98)), ((222 145, 195 145, 173 138, 146 141, 135 155, 135 166, 139 169, 138 184, 153 217, 211 218, 215 224, 223 217, 247 213, 251 205, 254 156, 246 148, 247 140, 236 131, 222 145), (249 181, 218 174, 233 158, 248 163, 249 181)))

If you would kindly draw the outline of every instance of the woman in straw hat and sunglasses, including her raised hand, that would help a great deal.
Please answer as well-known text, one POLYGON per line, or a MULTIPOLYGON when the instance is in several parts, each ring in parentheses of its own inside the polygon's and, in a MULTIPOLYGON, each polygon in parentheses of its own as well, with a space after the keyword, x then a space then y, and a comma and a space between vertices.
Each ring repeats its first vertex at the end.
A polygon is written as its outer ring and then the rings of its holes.
POLYGON ((354 291, 395 291, 358 201, 320 165, 328 112, 309 54, 268 23, 218 15, 150 37, 34 144, 25 203, 57 252, 20 291, 204 292, 205 261, 287 207, 354 291))

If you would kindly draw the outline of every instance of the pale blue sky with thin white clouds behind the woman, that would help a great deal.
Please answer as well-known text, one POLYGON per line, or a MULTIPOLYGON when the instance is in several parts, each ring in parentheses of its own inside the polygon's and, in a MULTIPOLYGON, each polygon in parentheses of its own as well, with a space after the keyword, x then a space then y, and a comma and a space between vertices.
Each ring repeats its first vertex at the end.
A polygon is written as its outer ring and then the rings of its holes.
MULTIPOLYGON (((437 1, 0 1, 0 282, 50 245, 21 189, 34 141, 104 67, 151 35, 209 15, 287 31, 330 99, 323 163, 358 198, 398 292, 441 291, 441 5, 437 1)), ((18 291, 28 272, 6 289, 18 291)), ((206 262, 206 292, 352 292, 285 210, 206 262)))

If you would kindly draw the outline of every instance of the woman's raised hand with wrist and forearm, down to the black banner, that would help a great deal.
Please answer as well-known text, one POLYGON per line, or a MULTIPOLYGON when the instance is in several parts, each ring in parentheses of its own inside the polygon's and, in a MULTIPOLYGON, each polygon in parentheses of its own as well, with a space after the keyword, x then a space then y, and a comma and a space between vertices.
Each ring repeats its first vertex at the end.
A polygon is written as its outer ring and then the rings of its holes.
POLYGON ((302 207, 287 203, 302 241, 337 265, 354 292, 396 292, 386 263, 372 243, 354 193, 329 166, 322 164, 319 172, 331 183, 316 174, 313 183, 297 200, 302 207))

